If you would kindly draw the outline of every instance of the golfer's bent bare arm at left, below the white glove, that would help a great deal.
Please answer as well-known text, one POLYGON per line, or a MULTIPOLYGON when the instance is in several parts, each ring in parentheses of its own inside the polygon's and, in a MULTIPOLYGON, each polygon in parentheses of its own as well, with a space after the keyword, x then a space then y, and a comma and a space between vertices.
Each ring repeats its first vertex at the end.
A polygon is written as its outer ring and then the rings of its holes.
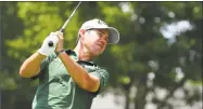
POLYGON ((39 73, 40 64, 46 58, 46 56, 39 54, 38 52, 34 53, 28 57, 20 69, 20 76, 23 78, 31 78, 39 73))

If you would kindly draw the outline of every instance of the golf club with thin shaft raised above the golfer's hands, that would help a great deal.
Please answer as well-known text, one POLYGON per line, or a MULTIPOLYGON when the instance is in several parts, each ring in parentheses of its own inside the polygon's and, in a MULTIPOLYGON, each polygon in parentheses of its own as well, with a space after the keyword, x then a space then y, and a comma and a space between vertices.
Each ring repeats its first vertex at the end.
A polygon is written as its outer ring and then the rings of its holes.
MULTIPOLYGON (((79 4, 81 3, 81 1, 79 1, 79 3, 77 4, 77 6, 75 8, 75 10, 72 12, 72 14, 69 15, 69 17, 67 18, 67 21, 64 23, 64 25, 62 26, 62 28, 60 29, 61 32, 64 31, 65 27, 67 26, 67 24, 69 23, 71 18, 74 16, 76 10, 78 9, 79 4)), ((53 46, 53 42, 49 41, 48 43, 49 46, 53 46)))

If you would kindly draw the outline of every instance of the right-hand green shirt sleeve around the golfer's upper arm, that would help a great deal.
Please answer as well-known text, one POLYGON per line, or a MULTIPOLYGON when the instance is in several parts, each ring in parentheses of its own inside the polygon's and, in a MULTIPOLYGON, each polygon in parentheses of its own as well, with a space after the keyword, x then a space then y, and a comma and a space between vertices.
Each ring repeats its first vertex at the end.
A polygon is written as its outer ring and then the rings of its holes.
POLYGON ((100 87, 99 87, 98 92, 96 92, 97 94, 100 94, 104 90, 104 87, 106 86, 106 84, 109 82, 109 72, 105 69, 100 68, 93 72, 90 72, 90 73, 100 79, 100 87))

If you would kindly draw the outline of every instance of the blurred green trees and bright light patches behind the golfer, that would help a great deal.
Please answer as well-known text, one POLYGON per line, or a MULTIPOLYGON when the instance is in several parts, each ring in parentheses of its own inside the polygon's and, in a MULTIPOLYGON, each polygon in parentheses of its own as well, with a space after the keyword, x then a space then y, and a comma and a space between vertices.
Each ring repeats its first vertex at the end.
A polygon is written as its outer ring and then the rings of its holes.
MULTIPOLYGON (((22 79, 20 67, 77 3, 0 2, 0 109, 31 109, 38 80, 22 79)), ((110 82, 91 109, 202 109, 202 2, 84 1, 65 28, 66 49, 96 17, 120 41, 94 60, 110 82)))

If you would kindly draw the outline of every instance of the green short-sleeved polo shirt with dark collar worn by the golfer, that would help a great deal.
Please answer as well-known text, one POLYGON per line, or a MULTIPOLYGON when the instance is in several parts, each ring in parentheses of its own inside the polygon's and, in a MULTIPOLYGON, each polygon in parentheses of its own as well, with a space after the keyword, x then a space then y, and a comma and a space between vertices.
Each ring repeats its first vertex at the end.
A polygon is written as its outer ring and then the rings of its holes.
MULTIPOLYGON (((67 55, 77 62, 74 51, 67 55)), ((39 85, 33 100, 33 109, 90 109, 92 99, 102 92, 109 80, 109 73, 91 62, 77 62, 88 73, 100 79, 100 87, 96 93, 80 88, 69 77, 63 63, 55 54, 49 55, 41 63, 38 74, 39 85)))

